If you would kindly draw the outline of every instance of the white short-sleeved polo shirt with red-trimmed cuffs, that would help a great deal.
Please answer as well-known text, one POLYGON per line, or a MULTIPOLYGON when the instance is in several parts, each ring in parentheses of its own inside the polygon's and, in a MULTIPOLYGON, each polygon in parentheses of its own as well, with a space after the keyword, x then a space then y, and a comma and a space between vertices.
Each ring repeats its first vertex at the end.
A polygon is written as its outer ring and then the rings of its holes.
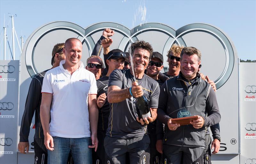
POLYGON ((92 72, 79 68, 72 74, 60 66, 46 72, 42 92, 52 94, 51 136, 63 138, 91 137, 88 94, 97 94, 97 84, 92 72))

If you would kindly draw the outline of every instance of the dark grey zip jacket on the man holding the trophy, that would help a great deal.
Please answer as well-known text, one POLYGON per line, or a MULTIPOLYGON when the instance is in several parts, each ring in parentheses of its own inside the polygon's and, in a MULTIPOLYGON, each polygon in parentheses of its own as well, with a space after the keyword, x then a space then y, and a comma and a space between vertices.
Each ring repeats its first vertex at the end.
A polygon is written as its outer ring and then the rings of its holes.
POLYGON ((167 124, 169 118, 177 118, 181 109, 189 111, 191 116, 202 116, 204 126, 195 129, 192 125, 183 125, 175 131, 167 128, 163 144, 204 147, 206 126, 220 122, 220 111, 215 92, 210 84, 201 79, 199 73, 189 87, 181 73, 167 80, 161 87, 157 110, 158 120, 167 124))

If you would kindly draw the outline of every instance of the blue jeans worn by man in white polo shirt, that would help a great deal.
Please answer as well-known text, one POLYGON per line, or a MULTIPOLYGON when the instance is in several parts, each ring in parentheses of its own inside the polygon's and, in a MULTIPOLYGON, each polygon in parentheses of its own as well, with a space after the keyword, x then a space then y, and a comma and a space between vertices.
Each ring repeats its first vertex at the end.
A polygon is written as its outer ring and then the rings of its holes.
POLYGON ((92 149, 88 147, 92 143, 90 137, 52 138, 54 150, 48 150, 48 164, 67 163, 69 152, 75 164, 92 164, 92 149))

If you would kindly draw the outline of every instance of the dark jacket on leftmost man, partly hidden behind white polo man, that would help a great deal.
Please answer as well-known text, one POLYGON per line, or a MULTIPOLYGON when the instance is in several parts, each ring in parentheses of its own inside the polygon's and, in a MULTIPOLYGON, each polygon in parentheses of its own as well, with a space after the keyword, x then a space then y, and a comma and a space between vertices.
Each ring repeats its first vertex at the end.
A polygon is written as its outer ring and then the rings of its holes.
MULTIPOLYGON (((48 69, 49 70, 49 69, 48 69)), ((42 85, 45 73, 48 71, 45 70, 32 78, 28 89, 28 95, 25 104, 25 110, 22 116, 21 125, 20 125, 20 142, 28 142, 28 135, 30 132, 30 125, 32 118, 35 113, 35 135, 34 138, 44 138, 43 127, 40 119, 40 105, 42 100, 42 85), (36 111, 36 112, 35 112, 36 111)))

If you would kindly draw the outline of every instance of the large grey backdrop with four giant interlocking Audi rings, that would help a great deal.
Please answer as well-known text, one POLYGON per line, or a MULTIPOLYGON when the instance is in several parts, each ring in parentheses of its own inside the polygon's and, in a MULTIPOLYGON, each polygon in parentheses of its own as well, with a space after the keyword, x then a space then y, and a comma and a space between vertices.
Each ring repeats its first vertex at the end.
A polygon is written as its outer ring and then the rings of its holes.
MULTIPOLYGON (((172 44, 198 48, 202 53, 202 68, 200 71, 216 83, 220 109, 225 109, 221 111, 222 120, 220 124, 223 124, 222 129, 227 128, 224 125, 229 124, 229 121, 235 123, 232 127, 221 131, 222 140, 225 141, 225 135, 229 136, 225 143, 230 143, 230 135, 238 140, 239 97, 236 49, 231 39, 219 28, 200 23, 185 25, 177 30, 160 23, 147 23, 134 28, 127 28, 124 25, 111 22, 97 23, 86 28, 64 21, 42 25, 28 37, 21 56, 20 85, 24 87, 20 87, 19 122, 22 118, 31 77, 52 67, 53 46, 57 43, 64 43, 66 39, 71 37, 80 39, 83 44, 81 61, 86 65, 86 59, 91 55, 95 43, 100 39, 105 28, 115 30, 115 35, 111 37, 113 44, 110 49, 119 48, 126 52, 131 42, 137 40, 149 42, 154 51, 162 53, 164 56, 163 71, 168 71, 166 55, 172 44), (230 117, 230 113, 233 112, 235 114, 230 117)), ((103 59, 103 54, 101 54, 101 58, 103 59)), ((225 153, 239 153, 238 145, 227 144, 225 153)))

